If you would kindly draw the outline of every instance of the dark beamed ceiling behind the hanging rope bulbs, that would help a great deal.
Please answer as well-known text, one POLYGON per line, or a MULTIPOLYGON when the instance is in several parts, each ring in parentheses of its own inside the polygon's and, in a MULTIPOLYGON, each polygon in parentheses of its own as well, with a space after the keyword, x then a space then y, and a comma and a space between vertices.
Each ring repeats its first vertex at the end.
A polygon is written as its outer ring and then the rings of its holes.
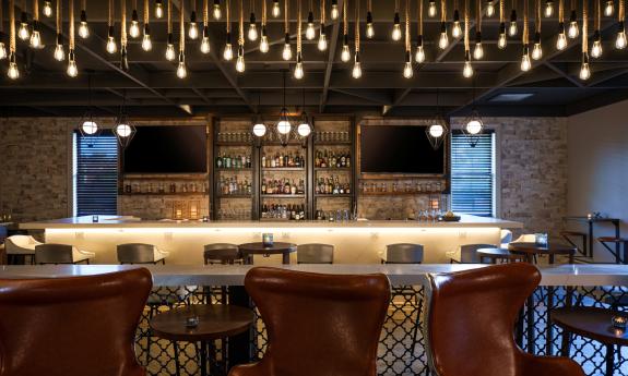
MULTIPOLYGON (((257 1, 258 21, 261 20, 261 1, 257 1)), ((271 0, 266 0, 269 4, 271 0)), ((342 4, 343 0, 339 0, 342 4)), ((472 1, 473 3, 475 1, 472 1)), ((43 2, 43 1, 40 1, 43 2)), ((140 4, 142 1, 139 1, 140 4)), ((210 1, 210 4, 213 1, 210 1)), ((222 1, 224 5, 224 0, 222 1)), ((250 0, 245 2, 245 19, 248 19, 250 0)), ((296 43, 296 1, 291 5, 291 31, 296 43)), ((328 7, 331 1, 328 0, 328 7)), ((533 9, 531 2, 531 9, 533 9)), ((556 1, 558 2, 558 1, 556 1)), ((31 1, 28 1, 31 3, 31 1)), ((454 40, 446 50, 439 50, 435 41, 439 35, 439 20, 425 19, 425 39, 427 62, 415 69, 414 77, 402 76, 404 44, 392 41, 390 29, 394 15, 394 1, 374 0, 374 21, 376 37, 364 37, 366 1, 362 1, 363 21, 362 62, 363 77, 351 76, 352 63, 340 60, 342 48, 342 24, 328 22, 325 33, 330 39, 330 49, 320 52, 316 40, 304 37, 305 77, 292 78, 294 61, 285 62, 281 58, 283 45, 283 19, 269 15, 268 34, 271 41, 269 53, 261 53, 258 44, 246 41, 246 72, 237 73, 234 62, 221 58, 225 40, 225 22, 210 20, 212 52, 202 54, 199 41, 186 44, 189 74, 179 80, 175 74, 175 63, 164 58, 166 23, 165 19, 154 20, 151 15, 153 50, 141 49, 140 39, 130 39, 130 70, 122 71, 119 56, 105 51, 107 35, 107 1, 88 1, 87 15, 92 36, 83 40, 76 37, 76 60, 81 73, 75 78, 66 75, 66 63, 52 59, 55 21, 42 19, 44 41, 48 45, 42 50, 28 48, 26 43, 17 45, 17 58, 22 77, 10 81, 0 75, 0 113, 3 116, 80 116, 88 105, 87 86, 92 82, 92 104, 98 114, 117 114, 126 97, 128 112, 131 116, 187 117, 208 113, 272 113, 282 105, 282 76, 286 74, 286 101, 289 107, 301 107, 305 100, 308 111, 316 113, 376 112, 388 116, 434 116, 437 102, 441 111, 450 116, 469 113, 474 97, 476 107, 485 116, 568 116, 595 107, 628 98, 628 51, 614 49, 616 19, 602 19, 601 29, 604 43, 603 59, 592 60, 592 76, 582 82, 578 78, 580 70, 580 43, 570 41, 564 51, 554 47, 558 21, 556 17, 543 19, 544 56, 533 62, 533 69, 523 73, 520 70, 522 44, 521 22, 519 39, 509 39, 508 47, 500 50, 496 46, 498 36, 498 16, 483 20, 485 58, 474 62, 473 78, 462 76, 464 46, 462 39, 454 40), (87 73, 92 72, 92 73, 87 73), (91 76, 91 80, 88 77, 91 76), (521 101, 512 101, 502 94, 530 94, 521 101), (305 98, 305 99, 304 99, 305 98)), ((127 2, 129 13, 131 1, 127 2)), ((154 0, 151 1, 151 7, 154 0)), ((175 16, 178 20, 179 0, 173 0, 175 16)), ((232 1, 232 13, 237 14, 239 1, 232 1)), ((307 17, 309 1, 303 0, 304 19, 307 17)), ((318 19, 319 11, 316 9, 318 19)), ((403 20, 404 1, 401 1, 403 20)), ((427 3, 427 0, 425 0, 427 3)), ((199 15, 202 1, 198 1, 199 15)), ((282 1, 283 4, 283 1, 282 1)), ((463 1, 460 0, 462 7, 463 1)), ((581 7, 579 1, 579 7, 581 7)), ((593 1, 590 1, 593 7, 593 1)), ((8 8, 4 1, 4 29, 8 29, 8 8)), ((21 4, 20 4, 21 5, 21 4)), ((64 3, 67 9, 67 3, 64 3)), ((76 13, 80 1, 75 1, 76 13)), ((189 2, 186 3, 186 19, 189 20, 189 2)), ((349 3, 348 14, 353 15, 355 1, 349 3)), ((518 10, 522 17, 523 1, 518 10)), ((448 4, 451 12, 453 2, 448 4)), ((140 5, 141 8, 141 5, 140 5)), ((270 7, 269 7, 270 8, 270 7)), ((411 1, 413 49, 416 39, 417 1, 411 1)), ((569 4, 566 4, 569 9, 569 4)), ((119 0, 116 1, 119 20, 119 0)), ((141 19, 141 9, 140 19, 141 19)), ((21 8, 16 7, 19 15, 21 8)), ((67 12, 66 12, 67 13, 67 12)), ((531 12, 532 13, 532 12, 531 12)), ((567 13, 567 12, 566 12, 567 13)), ((329 10, 328 10, 329 14, 329 10)), ((510 14, 510 1, 507 2, 510 14)), ((568 14, 568 13, 567 13, 568 14)), ((68 15, 64 15, 67 21, 68 15)), ((349 16, 351 44, 355 23, 349 16)), ((451 16, 448 16, 450 20, 451 16)), ((473 17, 472 17, 473 20, 473 17)), ((237 31, 237 19, 233 19, 232 29, 237 31)), ((533 17, 531 16, 531 27, 533 17)), ((245 27, 247 27, 246 23, 245 27)), ((318 24, 317 24, 318 25, 318 24)), ((475 35, 475 22, 471 22, 471 35, 475 35)), ((175 24, 175 38, 178 26, 175 24)), ((67 37, 68 25, 63 32, 67 37)), ((119 23, 117 23, 119 36, 119 23)), ((532 33, 533 34, 533 33, 532 33)), ((590 35, 593 34, 590 22, 590 35)), ((8 39, 8 38, 7 38, 8 39)), ((451 39, 451 38, 450 38, 451 39)), ((236 40, 236 38, 234 38, 236 40)), ((8 43, 8 40, 4 40, 8 43)), ((473 44, 473 37, 472 37, 473 44)), ((293 46, 294 50, 294 46, 293 46)), ((2 62, 5 65, 5 60, 2 62)))

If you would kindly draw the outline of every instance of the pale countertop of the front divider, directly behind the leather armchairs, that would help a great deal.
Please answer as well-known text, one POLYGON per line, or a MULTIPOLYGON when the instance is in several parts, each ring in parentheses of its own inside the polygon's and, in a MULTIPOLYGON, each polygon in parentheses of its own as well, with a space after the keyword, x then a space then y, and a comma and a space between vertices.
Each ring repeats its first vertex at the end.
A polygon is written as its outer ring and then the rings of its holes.
MULTIPOLYGON (((279 268, 324 274, 381 272, 393 286, 422 284, 426 274, 466 270, 487 265, 277 265, 279 268)), ((129 265, 11 265, 0 267, 1 278, 59 278, 114 272, 139 266, 129 265)), ((242 265, 150 265, 155 286, 241 286, 252 266, 242 265)), ((542 286, 626 286, 628 267, 623 265, 559 265, 540 267, 542 286)))

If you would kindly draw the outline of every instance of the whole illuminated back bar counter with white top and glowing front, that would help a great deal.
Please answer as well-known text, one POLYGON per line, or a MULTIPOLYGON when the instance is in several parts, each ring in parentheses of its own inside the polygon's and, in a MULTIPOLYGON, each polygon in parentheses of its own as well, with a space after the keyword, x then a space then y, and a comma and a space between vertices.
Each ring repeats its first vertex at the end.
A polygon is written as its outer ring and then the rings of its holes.
MULTIPOLYGON (((116 246, 149 243, 169 252, 167 264, 203 263, 203 245, 261 242, 272 233, 275 242, 325 243, 335 247, 334 263, 377 264, 387 244, 416 243, 425 250, 424 263, 449 263, 448 252, 462 244, 499 244, 502 229, 519 229, 520 222, 498 218, 461 216, 458 222, 356 220, 325 221, 145 221, 132 217, 92 216, 20 225, 24 230, 44 230, 48 243, 72 244, 96 254, 92 264, 117 264, 116 246)), ((296 254, 292 254, 296 263, 296 254)), ((280 264, 281 255, 256 256, 254 264, 280 264)))

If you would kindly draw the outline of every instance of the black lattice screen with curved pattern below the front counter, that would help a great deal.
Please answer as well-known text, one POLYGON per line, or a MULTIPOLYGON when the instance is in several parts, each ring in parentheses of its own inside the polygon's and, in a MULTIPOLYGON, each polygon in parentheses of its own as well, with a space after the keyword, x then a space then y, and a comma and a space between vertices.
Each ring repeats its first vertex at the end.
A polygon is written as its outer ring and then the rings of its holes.
MULTIPOLYGON (((162 300, 164 294, 170 294, 182 304, 202 304, 204 302, 204 290, 208 288, 191 287, 186 288, 186 295, 181 295, 180 288, 161 288, 154 293, 162 300)), ((220 289, 215 287, 212 289, 220 289)), ((540 287, 533 294, 533 305, 525 306, 524 313, 532 310, 532 315, 524 314, 523 331, 518 337, 520 345, 524 351, 537 355, 560 355, 561 330, 556 326, 548 326, 548 306, 550 308, 566 306, 597 306, 611 307, 611 300, 620 300, 628 294, 626 287, 540 287), (571 295, 570 295, 571 292, 571 295), (553 296, 548 304, 549 296, 553 296), (568 303, 568 296, 571 301, 568 303), (529 320, 529 319, 532 320, 529 320)), ((218 296, 220 294, 212 294, 218 296)), ((427 357, 425 341, 423 337, 423 315, 422 302, 424 302, 424 290, 420 286, 393 287, 393 299, 390 304, 384 327, 381 333, 378 350, 378 375, 425 375, 427 374, 427 357), (418 326, 417 326, 418 323, 418 326)), ((216 298, 212 303, 221 304, 216 298)), ((624 307, 619 306, 620 310, 624 307)), ((163 306, 159 311, 168 310, 163 306)), ((140 323, 137 333, 137 354, 149 371, 149 375, 175 375, 175 359, 173 345, 169 341, 152 339, 151 356, 146 357, 146 336, 149 325, 149 308, 144 311, 144 316, 140 323), (149 361, 146 362, 146 359, 149 361)), ((256 312, 257 313, 257 312, 256 312)), ((268 337, 263 322, 256 316, 256 336, 251 341, 253 357, 263 356, 268 344, 268 337)), ((194 343, 179 342, 179 362, 181 364, 181 375, 195 375, 198 373, 198 356, 194 343)), ((224 353, 220 344, 216 345, 216 355, 221 359, 224 353)), ((582 365, 586 375, 601 375, 605 369, 605 349, 599 342, 579 336, 573 337, 570 348, 570 356, 582 365)), ((621 349, 615 356, 614 375, 628 376, 628 349, 621 349)))

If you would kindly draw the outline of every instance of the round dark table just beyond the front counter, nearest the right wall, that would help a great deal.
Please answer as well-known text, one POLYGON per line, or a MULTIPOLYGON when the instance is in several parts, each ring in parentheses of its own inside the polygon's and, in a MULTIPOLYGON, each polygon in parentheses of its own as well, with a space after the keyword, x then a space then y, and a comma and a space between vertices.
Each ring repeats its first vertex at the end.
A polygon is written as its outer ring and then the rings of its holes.
MULTIPOLYGON (((547 245, 541 245, 536 243, 510 243, 508 250, 513 253, 519 253, 525 255, 529 263, 533 264, 536 255, 549 255, 549 264, 554 264, 556 255, 568 255, 569 264, 573 264, 573 255, 576 254, 576 247, 570 245, 564 245, 559 243, 548 243, 547 245)), ((571 291, 568 290, 567 295, 570 296, 571 291)), ((567 298, 570 301, 570 298, 567 298)), ((547 308, 554 307, 554 287, 547 288, 547 308)), ((534 353, 534 339, 532 332, 534 331, 534 299, 530 296, 528 299, 528 350, 534 353)), ((547 347, 546 353, 552 355, 552 338, 554 338, 554 329, 552 325, 547 326, 547 347)))

